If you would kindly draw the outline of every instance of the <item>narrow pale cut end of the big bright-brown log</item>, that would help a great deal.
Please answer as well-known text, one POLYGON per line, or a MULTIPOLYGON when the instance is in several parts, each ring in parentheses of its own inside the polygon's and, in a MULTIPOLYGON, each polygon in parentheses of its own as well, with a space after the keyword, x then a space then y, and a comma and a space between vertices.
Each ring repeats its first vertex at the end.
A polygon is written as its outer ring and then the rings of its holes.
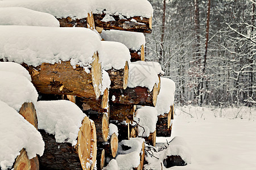
POLYGON ((92 79, 93 81, 93 88, 96 94, 96 97, 100 97, 100 84, 102 82, 102 73, 101 73, 101 65, 98 62, 98 53, 93 55, 93 62, 92 62, 92 79))

